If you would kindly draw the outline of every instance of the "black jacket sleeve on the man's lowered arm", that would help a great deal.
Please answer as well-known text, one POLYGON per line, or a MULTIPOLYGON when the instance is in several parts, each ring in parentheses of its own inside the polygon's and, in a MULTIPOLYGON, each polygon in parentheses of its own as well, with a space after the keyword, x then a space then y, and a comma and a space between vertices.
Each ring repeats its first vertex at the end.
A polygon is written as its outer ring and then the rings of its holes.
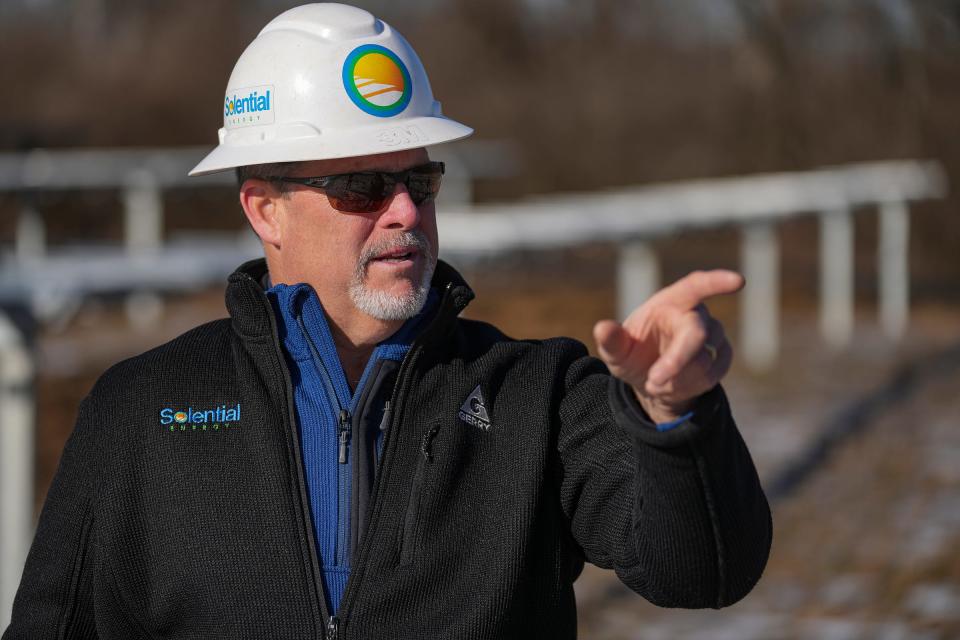
POLYGON ((90 534, 102 452, 93 441, 92 404, 89 397, 81 404, 64 447, 2 640, 97 637, 90 534))

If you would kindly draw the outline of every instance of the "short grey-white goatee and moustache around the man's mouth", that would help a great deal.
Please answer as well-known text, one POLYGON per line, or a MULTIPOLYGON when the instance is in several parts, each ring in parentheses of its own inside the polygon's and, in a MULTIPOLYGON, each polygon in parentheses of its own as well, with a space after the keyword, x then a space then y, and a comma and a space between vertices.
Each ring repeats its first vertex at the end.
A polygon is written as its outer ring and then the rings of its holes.
POLYGON ((426 234, 420 229, 404 231, 384 242, 367 248, 357 260, 348 289, 354 306, 377 320, 406 320, 420 313, 430 293, 430 280, 436 267, 436 258, 426 234), (417 247, 423 260, 423 272, 419 282, 411 282, 410 290, 402 294, 392 294, 371 288, 366 281, 367 265, 378 255, 398 247, 417 247))

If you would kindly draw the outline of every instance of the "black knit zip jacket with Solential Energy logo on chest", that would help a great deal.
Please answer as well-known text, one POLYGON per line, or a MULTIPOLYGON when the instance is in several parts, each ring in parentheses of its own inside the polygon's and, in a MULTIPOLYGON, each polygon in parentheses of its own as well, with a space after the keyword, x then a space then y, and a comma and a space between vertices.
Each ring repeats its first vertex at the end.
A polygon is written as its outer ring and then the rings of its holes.
POLYGON ((584 561, 668 607, 723 607, 760 578, 769 509, 720 387, 658 432, 580 343, 458 318, 473 293, 441 263, 329 617, 265 269, 230 277, 230 319, 84 400, 3 640, 553 640, 576 635, 584 561), (487 429, 459 415, 478 386, 487 429))

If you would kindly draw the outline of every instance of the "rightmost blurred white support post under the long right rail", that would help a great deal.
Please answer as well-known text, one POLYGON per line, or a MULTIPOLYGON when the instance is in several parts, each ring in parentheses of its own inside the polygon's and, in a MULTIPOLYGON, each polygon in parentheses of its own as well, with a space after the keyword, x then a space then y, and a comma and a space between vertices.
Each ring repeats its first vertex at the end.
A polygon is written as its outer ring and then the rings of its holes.
POLYGON ((880 326, 891 339, 903 337, 910 320, 910 212, 904 202, 880 205, 877 247, 880 326))

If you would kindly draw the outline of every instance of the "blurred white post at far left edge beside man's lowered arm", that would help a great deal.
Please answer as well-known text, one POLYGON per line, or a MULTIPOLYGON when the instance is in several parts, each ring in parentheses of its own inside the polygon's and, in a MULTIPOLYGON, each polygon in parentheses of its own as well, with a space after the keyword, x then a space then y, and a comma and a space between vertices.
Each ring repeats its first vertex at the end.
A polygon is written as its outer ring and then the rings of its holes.
POLYGON ((0 629, 33 537, 34 364, 16 326, 0 313, 0 629))

